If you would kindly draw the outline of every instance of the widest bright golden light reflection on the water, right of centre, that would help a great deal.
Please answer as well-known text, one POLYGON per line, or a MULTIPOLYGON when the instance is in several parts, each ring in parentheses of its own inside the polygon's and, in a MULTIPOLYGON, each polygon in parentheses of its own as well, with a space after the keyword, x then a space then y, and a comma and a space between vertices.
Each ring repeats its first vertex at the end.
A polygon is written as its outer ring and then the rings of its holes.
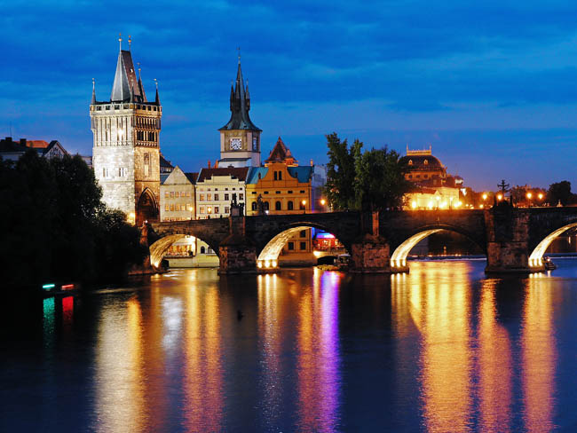
POLYGON ((470 287, 464 263, 411 268, 411 317, 423 339, 421 382, 423 417, 430 431, 470 429, 470 287))

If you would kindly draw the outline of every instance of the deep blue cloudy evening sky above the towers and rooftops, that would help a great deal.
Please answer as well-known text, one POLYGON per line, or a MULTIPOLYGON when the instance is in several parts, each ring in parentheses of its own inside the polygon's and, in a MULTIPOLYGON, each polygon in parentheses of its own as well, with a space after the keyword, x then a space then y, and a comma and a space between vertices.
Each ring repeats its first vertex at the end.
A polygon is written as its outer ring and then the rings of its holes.
POLYGON ((0 136, 91 153, 91 79, 110 98, 118 33, 163 106, 162 153, 186 171, 219 156, 241 47, 266 156, 301 163, 324 135, 432 146, 476 189, 577 190, 577 3, 3 1, 0 136))

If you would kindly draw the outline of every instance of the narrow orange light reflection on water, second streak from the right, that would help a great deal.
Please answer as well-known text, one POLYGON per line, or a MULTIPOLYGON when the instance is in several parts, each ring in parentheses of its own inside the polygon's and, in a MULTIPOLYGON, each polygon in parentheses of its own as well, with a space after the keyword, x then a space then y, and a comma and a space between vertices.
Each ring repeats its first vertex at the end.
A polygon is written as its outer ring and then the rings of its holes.
POLYGON ((482 431, 509 431, 512 398, 510 337, 497 321, 495 280, 483 282, 478 307, 479 412, 482 431))

